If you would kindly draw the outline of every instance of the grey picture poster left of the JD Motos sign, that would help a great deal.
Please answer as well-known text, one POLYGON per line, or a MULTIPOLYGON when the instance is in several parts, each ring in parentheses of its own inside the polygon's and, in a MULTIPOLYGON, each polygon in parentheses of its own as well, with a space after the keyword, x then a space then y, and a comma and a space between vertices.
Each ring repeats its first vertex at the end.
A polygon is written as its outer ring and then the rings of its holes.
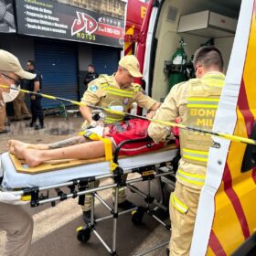
POLYGON ((0 0, 0 33, 15 33, 13 0, 0 0))

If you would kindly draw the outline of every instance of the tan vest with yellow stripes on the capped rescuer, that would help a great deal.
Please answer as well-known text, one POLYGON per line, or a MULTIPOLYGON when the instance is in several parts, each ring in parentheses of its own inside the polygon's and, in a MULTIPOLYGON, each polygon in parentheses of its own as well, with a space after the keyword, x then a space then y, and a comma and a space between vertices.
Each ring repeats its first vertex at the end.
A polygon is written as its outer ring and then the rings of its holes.
MULTIPOLYGON (((141 86, 139 84, 132 83, 131 87, 123 90, 116 88, 116 85, 110 76, 101 75, 99 79, 102 81, 101 90, 106 92, 106 97, 102 98, 97 105, 116 111, 128 112, 133 103, 135 93, 141 91, 141 86)), ((105 112, 105 123, 116 123, 122 120, 122 115, 105 112)))

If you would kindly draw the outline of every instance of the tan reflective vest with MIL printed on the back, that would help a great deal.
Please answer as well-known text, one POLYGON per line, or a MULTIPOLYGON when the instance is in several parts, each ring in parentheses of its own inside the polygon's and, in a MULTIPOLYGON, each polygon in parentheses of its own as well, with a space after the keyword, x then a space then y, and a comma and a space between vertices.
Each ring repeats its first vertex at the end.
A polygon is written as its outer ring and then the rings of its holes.
MULTIPOLYGON (((212 131, 224 82, 225 76, 219 72, 210 72, 200 80, 187 82, 187 112, 183 124, 212 131)), ((181 129, 179 137, 183 160, 190 164, 207 166, 208 149, 212 145, 211 136, 181 129)), ((203 176, 189 176, 182 173, 182 170, 179 171, 177 177, 181 180, 191 180, 195 185, 204 182, 203 176)))

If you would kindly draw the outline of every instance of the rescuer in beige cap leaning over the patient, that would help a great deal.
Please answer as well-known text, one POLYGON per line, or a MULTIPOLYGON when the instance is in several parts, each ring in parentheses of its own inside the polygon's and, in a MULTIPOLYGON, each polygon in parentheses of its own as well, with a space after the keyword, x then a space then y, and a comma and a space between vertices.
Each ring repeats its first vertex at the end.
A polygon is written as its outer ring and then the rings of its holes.
MULTIPOLYGON (((138 106, 145 108, 147 111, 155 112, 160 103, 145 95, 141 86, 133 83, 134 78, 141 78, 138 59, 133 55, 124 56, 119 61, 117 72, 112 76, 101 75, 98 79, 92 80, 85 91, 81 102, 86 105, 95 105, 120 112, 128 112, 133 102, 137 102, 138 106)), ((80 112, 85 118, 86 125, 95 127, 97 123, 92 120, 91 109, 88 107, 80 107, 80 112)), ((123 121, 122 115, 105 112, 104 124, 112 124, 123 121)), ((94 183, 91 183, 93 186, 94 183)), ((99 186, 99 181, 94 184, 99 186)), ((126 199, 124 188, 120 188, 118 194, 119 207, 123 209, 133 208, 133 204, 126 199)), ((85 197, 85 204, 82 207, 83 217, 85 221, 91 219, 91 196, 85 197)))

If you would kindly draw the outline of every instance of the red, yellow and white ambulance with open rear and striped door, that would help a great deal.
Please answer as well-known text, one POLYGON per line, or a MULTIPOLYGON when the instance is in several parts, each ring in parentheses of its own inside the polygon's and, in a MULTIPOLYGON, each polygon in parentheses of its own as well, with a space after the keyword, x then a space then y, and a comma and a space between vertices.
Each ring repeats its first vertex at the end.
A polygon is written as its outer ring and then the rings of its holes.
MULTIPOLYGON (((213 131, 256 139, 256 0, 151 0, 136 44, 157 101, 172 76, 193 77, 197 48, 218 47, 226 81, 213 131)), ((190 255, 256 255, 256 146, 212 139, 190 255)))

